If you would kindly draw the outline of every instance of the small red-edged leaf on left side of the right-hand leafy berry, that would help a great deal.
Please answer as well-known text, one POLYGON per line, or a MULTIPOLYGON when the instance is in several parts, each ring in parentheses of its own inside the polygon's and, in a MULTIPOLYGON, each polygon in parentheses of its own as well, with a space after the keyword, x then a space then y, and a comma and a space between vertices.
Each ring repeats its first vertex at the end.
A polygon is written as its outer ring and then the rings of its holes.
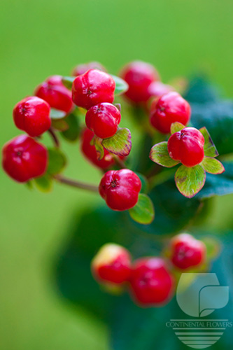
POLYGON ((162 165, 162 167, 171 168, 178 164, 176 160, 173 160, 168 153, 167 150, 167 141, 160 142, 160 144, 156 144, 150 150, 150 159, 162 165))

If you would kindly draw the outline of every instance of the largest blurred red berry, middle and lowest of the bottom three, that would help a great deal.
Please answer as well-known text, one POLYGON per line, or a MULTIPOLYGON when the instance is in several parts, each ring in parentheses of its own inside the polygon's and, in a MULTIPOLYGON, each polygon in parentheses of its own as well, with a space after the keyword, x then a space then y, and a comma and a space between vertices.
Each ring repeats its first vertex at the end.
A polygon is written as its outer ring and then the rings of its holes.
POLYGON ((174 279, 162 258, 136 260, 129 283, 134 299, 141 306, 165 304, 174 290, 174 279))

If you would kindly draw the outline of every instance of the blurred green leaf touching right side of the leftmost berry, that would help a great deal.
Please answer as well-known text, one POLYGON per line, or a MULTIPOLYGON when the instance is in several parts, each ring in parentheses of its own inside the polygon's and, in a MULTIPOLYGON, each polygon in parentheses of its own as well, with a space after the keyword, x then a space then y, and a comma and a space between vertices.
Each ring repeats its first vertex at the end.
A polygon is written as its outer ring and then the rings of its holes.
POLYGON ((66 156, 58 148, 48 148, 48 169, 50 175, 59 174, 66 166, 66 156))

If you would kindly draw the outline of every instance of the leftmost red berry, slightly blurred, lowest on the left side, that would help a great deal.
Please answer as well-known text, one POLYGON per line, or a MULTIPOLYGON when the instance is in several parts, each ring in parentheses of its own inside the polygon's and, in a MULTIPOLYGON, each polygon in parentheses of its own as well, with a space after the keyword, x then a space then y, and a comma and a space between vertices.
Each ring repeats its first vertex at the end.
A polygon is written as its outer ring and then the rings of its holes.
POLYGON ((15 181, 26 182, 44 174, 48 153, 46 148, 27 135, 8 141, 2 149, 2 165, 15 181))

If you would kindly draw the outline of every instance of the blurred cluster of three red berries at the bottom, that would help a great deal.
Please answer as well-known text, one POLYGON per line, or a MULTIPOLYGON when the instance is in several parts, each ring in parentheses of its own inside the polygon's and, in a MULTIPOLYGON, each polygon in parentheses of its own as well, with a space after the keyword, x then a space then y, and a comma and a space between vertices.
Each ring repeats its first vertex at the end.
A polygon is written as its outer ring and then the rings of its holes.
POLYGON ((105 286, 127 286, 135 302, 144 307, 160 306, 171 299, 176 278, 174 269, 187 272, 206 260, 206 246, 188 234, 171 239, 169 258, 146 257, 132 262, 126 248, 105 244, 92 260, 94 279, 105 286))

